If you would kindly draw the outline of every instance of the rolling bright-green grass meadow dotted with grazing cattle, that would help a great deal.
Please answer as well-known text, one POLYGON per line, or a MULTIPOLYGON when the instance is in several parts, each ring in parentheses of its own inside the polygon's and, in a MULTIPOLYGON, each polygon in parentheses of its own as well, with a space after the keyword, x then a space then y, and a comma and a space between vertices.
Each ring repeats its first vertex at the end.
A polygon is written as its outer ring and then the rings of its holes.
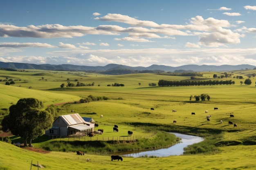
MULTIPOLYGON (((176 86, 159 87, 149 86, 159 79, 180 81, 190 80, 191 77, 156 75, 150 73, 130 75, 100 75, 95 73, 65 72, 65 71, 40 71, 28 70, 26 72, 0 71, 0 79, 19 79, 14 85, 4 85, 0 82, 0 112, 6 115, 9 106, 16 104, 18 99, 34 97, 41 100, 45 107, 51 104, 79 101, 89 95, 108 97, 109 100, 92 101, 79 104, 57 105, 58 114, 70 114, 70 110, 79 113, 82 117, 92 117, 104 129, 114 124, 123 126, 120 133, 115 136, 127 136, 131 129, 134 135, 144 135, 147 132, 141 127, 150 128, 152 131, 164 130, 183 132, 205 137, 207 142, 191 146, 194 150, 211 149, 217 146, 217 151, 197 152, 182 156, 162 158, 126 157, 124 161, 110 161, 110 156, 104 154, 87 153, 85 156, 76 156, 75 152, 51 151, 40 154, 15 147, 5 142, 0 142, 1 154, 0 169, 24 170, 30 168, 31 160, 39 161, 46 169, 211 169, 211 170, 242 170, 255 169, 256 135, 256 87, 254 77, 251 85, 240 84, 254 70, 232 71, 231 77, 223 80, 235 81, 234 85, 216 86, 176 86), (242 75, 243 79, 236 79, 242 75), (61 84, 82 82, 94 86, 64 87, 61 84), (124 84, 123 87, 108 86, 114 83, 124 84), (196 102, 190 96, 208 94, 209 101, 196 102), (218 110, 213 110, 218 107, 218 110), (154 108, 155 110, 150 110, 154 108), (173 113, 175 109, 177 112, 173 113), (208 110, 209 113, 205 113, 208 110), (191 115, 194 112, 195 115, 191 115), (230 114, 234 117, 230 117, 230 114), (100 118, 103 115, 103 118, 100 118), (210 121, 206 116, 211 115, 210 121), (173 120, 177 120, 173 124, 173 120), (220 124, 220 120, 223 121, 220 124), (233 121, 237 127, 228 124, 233 121), (212 142, 210 142, 212 141, 212 142), (208 146, 207 146, 208 145, 208 146), (208 147, 208 148, 207 148, 208 147), (86 162, 86 158, 90 162, 86 162)), ((203 72, 203 77, 195 80, 213 80, 213 74, 223 75, 222 72, 203 72)), ((111 128, 109 128, 111 130, 111 128)), ((106 133, 106 137, 113 133, 106 133)), ((103 134, 105 135, 105 134, 103 134)), ((48 140, 50 141, 50 140, 48 140)), ((33 143, 33 142, 32 142, 33 143)), ((46 143, 34 143, 36 147, 43 147, 46 143)), ((32 167, 32 169, 37 167, 32 167)))

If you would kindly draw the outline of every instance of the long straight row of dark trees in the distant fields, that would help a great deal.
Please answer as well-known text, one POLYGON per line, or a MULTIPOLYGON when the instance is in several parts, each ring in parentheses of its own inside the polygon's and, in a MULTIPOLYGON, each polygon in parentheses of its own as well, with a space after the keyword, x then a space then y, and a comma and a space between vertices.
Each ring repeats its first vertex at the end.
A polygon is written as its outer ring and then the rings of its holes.
POLYGON ((158 86, 200 86, 200 85, 231 85, 235 84, 232 80, 207 80, 207 81, 169 81, 160 79, 158 86))

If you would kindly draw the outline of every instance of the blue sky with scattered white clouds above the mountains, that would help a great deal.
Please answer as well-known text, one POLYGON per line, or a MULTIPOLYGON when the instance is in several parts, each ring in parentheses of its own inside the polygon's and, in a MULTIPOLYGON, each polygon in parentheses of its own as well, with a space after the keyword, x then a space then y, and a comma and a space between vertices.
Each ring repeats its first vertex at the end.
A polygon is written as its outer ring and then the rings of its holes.
POLYGON ((0 0, 0 62, 256 66, 256 0, 0 0))

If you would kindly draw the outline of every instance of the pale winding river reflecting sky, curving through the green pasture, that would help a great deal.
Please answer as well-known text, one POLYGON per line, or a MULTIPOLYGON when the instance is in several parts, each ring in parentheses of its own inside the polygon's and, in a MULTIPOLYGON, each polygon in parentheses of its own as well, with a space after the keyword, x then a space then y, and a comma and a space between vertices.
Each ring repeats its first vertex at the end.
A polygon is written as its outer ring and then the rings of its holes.
POLYGON ((182 155, 184 152, 183 150, 184 148, 204 140, 202 137, 198 137, 198 136, 185 135, 185 134, 174 133, 174 132, 170 132, 170 133, 174 134, 176 137, 180 137, 181 143, 175 144, 168 148, 162 148, 157 150, 148 150, 148 151, 129 153, 129 154, 120 154, 120 153, 119 154, 124 157, 143 157, 145 155, 147 155, 148 157, 150 156, 168 157, 171 155, 182 155))

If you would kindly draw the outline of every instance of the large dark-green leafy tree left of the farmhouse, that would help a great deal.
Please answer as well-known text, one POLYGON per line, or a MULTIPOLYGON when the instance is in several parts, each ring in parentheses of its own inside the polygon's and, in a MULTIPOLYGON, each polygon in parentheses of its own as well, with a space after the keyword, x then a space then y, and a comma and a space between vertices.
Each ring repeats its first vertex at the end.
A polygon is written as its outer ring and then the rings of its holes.
POLYGON ((2 130, 10 130, 13 135, 24 138, 24 145, 31 146, 32 139, 44 134, 52 127, 52 114, 43 110, 43 103, 34 98, 19 99, 9 107, 9 115, 2 120, 2 130))

